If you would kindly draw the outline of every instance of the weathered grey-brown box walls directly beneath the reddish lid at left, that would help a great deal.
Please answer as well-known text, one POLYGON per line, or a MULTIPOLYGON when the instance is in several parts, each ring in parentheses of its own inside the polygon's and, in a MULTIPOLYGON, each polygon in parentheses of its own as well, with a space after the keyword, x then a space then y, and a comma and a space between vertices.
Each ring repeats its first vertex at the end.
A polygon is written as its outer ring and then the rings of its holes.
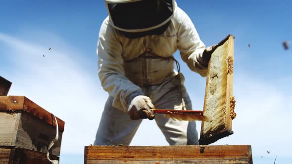
MULTIPOLYGON (((56 135, 56 127, 27 113, 0 112, 0 146, 15 146, 47 153, 49 143, 56 135)), ((59 156, 62 131, 50 154, 59 156)))

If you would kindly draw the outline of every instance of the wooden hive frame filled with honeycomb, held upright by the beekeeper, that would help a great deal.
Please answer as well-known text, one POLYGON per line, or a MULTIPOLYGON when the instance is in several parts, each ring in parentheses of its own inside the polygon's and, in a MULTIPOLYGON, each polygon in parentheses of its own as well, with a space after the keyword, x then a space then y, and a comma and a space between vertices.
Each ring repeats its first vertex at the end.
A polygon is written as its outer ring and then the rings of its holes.
POLYGON ((231 125, 236 114, 233 97, 234 37, 227 36, 212 53, 207 73, 204 113, 213 116, 202 122, 199 144, 208 145, 233 134, 231 125))

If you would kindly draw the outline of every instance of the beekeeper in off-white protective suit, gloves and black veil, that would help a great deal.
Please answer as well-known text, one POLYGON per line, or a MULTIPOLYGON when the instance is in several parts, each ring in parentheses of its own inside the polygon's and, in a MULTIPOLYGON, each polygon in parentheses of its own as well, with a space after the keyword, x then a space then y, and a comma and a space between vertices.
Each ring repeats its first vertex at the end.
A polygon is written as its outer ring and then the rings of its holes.
MULTIPOLYGON (((108 15, 97 43, 98 76, 109 93, 95 145, 129 145, 143 119, 155 120, 170 145, 198 145, 195 122, 174 121, 150 109, 192 109, 180 51, 188 67, 206 76, 205 48, 175 0, 105 0, 108 15)), ((149 134, 150 135, 150 134, 149 134)))

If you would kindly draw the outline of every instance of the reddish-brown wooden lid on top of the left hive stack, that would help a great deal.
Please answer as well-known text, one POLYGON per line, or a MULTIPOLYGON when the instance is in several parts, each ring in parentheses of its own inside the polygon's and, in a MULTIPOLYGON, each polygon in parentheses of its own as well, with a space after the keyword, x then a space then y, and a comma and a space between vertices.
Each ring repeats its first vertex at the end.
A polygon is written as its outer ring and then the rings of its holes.
MULTIPOLYGON (((56 127, 54 115, 25 96, 0 96, 0 112, 26 112, 56 127)), ((59 130, 64 131, 65 122, 57 118, 59 130)))

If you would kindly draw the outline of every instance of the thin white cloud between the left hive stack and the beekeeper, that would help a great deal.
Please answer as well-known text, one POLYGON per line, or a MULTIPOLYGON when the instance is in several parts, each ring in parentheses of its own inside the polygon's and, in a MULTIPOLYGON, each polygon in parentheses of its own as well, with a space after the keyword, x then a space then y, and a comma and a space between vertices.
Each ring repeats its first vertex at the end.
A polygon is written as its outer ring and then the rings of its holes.
POLYGON ((72 54, 72 47, 51 49, 44 58, 42 51, 47 46, 2 33, 0 42, 8 49, 0 50, 5 54, 0 61, 13 66, 1 69, 1 76, 13 82, 9 95, 27 96, 65 121, 61 153, 84 153, 84 146, 94 141, 107 97, 97 76, 92 77, 82 67, 86 63, 72 57, 81 56, 72 54))

